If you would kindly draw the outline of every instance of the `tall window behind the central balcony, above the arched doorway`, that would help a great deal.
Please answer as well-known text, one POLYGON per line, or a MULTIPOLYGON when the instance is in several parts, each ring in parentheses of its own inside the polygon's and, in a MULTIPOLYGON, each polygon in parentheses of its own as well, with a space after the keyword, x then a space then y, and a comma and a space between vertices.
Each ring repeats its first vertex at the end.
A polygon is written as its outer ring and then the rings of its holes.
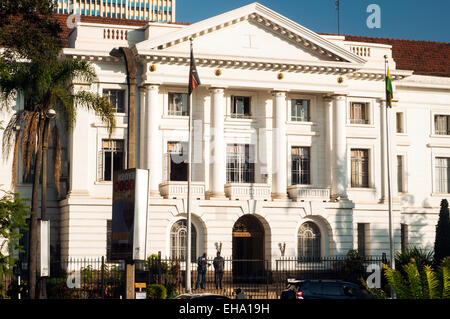
POLYGON ((227 145, 227 183, 254 183, 254 146, 227 145))

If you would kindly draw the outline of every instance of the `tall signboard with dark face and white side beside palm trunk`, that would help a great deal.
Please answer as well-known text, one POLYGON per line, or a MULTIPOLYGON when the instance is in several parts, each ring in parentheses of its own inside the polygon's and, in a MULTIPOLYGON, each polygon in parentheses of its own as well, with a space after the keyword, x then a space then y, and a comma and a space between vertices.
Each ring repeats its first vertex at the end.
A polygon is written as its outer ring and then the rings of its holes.
POLYGON ((111 231, 112 260, 145 260, 149 171, 114 172, 111 231))

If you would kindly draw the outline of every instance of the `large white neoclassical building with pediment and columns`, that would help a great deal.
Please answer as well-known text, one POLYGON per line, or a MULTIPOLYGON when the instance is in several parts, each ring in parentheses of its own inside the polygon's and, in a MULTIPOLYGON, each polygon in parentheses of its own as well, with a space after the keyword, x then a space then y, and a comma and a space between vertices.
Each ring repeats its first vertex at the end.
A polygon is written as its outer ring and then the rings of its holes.
MULTIPOLYGON (((317 34, 254 3, 192 25, 81 22, 70 33, 65 56, 90 61, 99 78, 77 86, 108 94, 118 113, 112 139, 84 111, 67 137, 68 192, 50 205, 63 257, 107 253, 111 172, 125 165, 127 143, 126 69, 109 54, 119 46, 138 62, 148 254, 184 255, 190 37, 202 82, 193 93, 196 256, 215 255, 220 243, 224 256, 267 260, 284 244, 286 256, 388 254, 387 120, 395 249, 432 248, 440 201, 450 198, 450 72, 401 69, 392 45, 317 34), (127 37, 105 37, 121 32, 127 37)), ((10 162, 1 184, 10 183, 10 162)))

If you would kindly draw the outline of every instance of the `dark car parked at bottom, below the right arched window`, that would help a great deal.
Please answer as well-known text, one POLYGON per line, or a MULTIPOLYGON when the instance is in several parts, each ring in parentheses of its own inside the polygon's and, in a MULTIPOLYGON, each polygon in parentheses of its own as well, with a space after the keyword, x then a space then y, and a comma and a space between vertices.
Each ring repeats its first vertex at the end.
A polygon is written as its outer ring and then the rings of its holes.
POLYGON ((281 299, 373 299, 364 288, 341 280, 288 279, 281 299))

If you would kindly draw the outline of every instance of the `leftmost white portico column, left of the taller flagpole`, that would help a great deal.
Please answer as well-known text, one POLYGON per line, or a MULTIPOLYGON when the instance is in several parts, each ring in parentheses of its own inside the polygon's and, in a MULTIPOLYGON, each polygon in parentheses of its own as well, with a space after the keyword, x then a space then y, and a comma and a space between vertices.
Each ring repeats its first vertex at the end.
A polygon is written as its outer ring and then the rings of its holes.
POLYGON ((161 103, 159 99, 159 86, 147 86, 146 100, 146 131, 144 143, 144 168, 150 170, 150 196, 160 197, 159 184, 162 182, 163 147, 162 136, 159 130, 161 119, 161 103))

